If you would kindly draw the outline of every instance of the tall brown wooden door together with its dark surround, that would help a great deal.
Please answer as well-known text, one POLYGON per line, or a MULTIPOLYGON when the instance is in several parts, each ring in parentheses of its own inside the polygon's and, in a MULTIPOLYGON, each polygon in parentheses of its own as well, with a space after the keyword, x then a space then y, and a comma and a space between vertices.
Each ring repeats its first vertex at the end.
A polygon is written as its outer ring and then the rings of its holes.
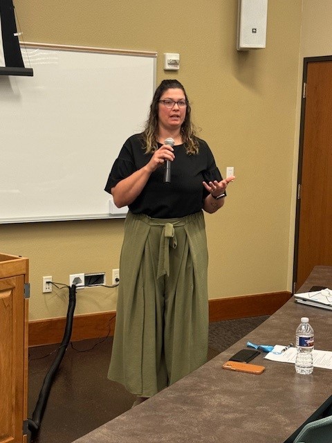
POLYGON ((332 265, 332 57, 304 59, 294 282, 332 265))

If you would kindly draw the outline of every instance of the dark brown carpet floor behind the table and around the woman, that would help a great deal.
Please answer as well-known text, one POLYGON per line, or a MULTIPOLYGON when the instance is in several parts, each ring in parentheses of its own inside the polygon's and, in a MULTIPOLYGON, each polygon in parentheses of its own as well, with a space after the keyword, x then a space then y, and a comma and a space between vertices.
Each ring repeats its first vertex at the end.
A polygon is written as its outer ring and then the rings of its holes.
MULTIPOLYGON (((214 358, 255 329, 268 316, 210 323, 208 359, 214 358)), ((33 443, 71 443, 131 408, 134 397, 106 377, 112 337, 68 346, 59 367, 39 433, 33 443)), ((58 345, 30 347, 28 417, 33 417, 40 389, 58 345)))

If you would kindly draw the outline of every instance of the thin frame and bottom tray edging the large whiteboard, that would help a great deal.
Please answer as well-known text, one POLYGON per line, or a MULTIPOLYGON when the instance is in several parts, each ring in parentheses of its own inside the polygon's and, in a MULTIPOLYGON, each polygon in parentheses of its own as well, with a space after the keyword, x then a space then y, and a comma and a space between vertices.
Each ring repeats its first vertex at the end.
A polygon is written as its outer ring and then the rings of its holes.
MULTIPOLYGON (((156 89, 156 52, 151 51, 131 51, 124 49, 111 49, 111 48, 95 48, 91 46, 64 46, 58 44, 40 44, 33 42, 25 42, 21 44, 22 55, 24 55, 24 48, 32 48, 32 49, 45 49, 54 50, 54 51, 71 51, 75 53, 97 53, 97 54, 105 54, 105 55, 126 55, 126 56, 136 56, 136 57, 150 57, 153 59, 153 82, 151 85, 153 91, 156 89)), ((152 98, 152 97, 151 97, 152 98)), ((129 129, 130 131, 130 129, 129 129)), ((132 134, 127 134, 129 137, 132 134)), ((125 140, 125 139, 124 139, 125 140)), ((122 143, 124 143, 124 140, 122 143)), ((120 151, 120 147, 118 146, 118 151, 120 151)), ((100 159, 102 161, 102 159, 100 159)), ((14 168, 14 166, 12 165, 14 168)), ((111 169, 111 164, 109 165, 109 170, 111 169)), ((104 183, 106 183, 107 177, 104 177, 104 183)), ((104 191, 103 191, 104 192, 104 191)), ((107 196, 107 193, 105 192, 107 196)), ((1 195, 0 195, 1 197, 1 195)), ((109 206, 112 207, 111 195, 107 196, 110 201, 109 206)), ((66 212, 66 211, 64 211, 66 212)), ((113 214, 111 213, 98 213, 98 214, 78 214, 78 215, 70 215, 68 213, 64 215, 32 215, 31 217, 1 217, 1 208, 0 208, 0 224, 15 224, 15 223, 26 223, 26 222, 36 222, 36 221, 70 221, 70 220, 84 220, 84 219, 114 219, 114 218, 122 218, 127 214, 127 207, 123 208, 123 210, 116 210, 113 214)))

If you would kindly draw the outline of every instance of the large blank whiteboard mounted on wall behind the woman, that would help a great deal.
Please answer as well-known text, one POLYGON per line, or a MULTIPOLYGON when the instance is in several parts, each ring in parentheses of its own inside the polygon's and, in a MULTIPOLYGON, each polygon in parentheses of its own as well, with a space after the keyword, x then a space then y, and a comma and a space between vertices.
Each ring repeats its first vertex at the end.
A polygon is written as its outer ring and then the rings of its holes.
POLYGON ((156 53, 28 46, 33 77, 0 76, 0 223, 124 217, 104 191, 142 132, 156 53))

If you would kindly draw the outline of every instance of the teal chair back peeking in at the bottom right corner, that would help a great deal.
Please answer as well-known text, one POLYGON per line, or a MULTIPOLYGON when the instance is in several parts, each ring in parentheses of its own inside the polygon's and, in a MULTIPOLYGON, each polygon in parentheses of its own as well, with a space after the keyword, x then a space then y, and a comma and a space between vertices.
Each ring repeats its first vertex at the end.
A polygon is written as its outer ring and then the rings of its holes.
POLYGON ((293 443, 331 443, 332 415, 315 420, 302 428, 293 443))

